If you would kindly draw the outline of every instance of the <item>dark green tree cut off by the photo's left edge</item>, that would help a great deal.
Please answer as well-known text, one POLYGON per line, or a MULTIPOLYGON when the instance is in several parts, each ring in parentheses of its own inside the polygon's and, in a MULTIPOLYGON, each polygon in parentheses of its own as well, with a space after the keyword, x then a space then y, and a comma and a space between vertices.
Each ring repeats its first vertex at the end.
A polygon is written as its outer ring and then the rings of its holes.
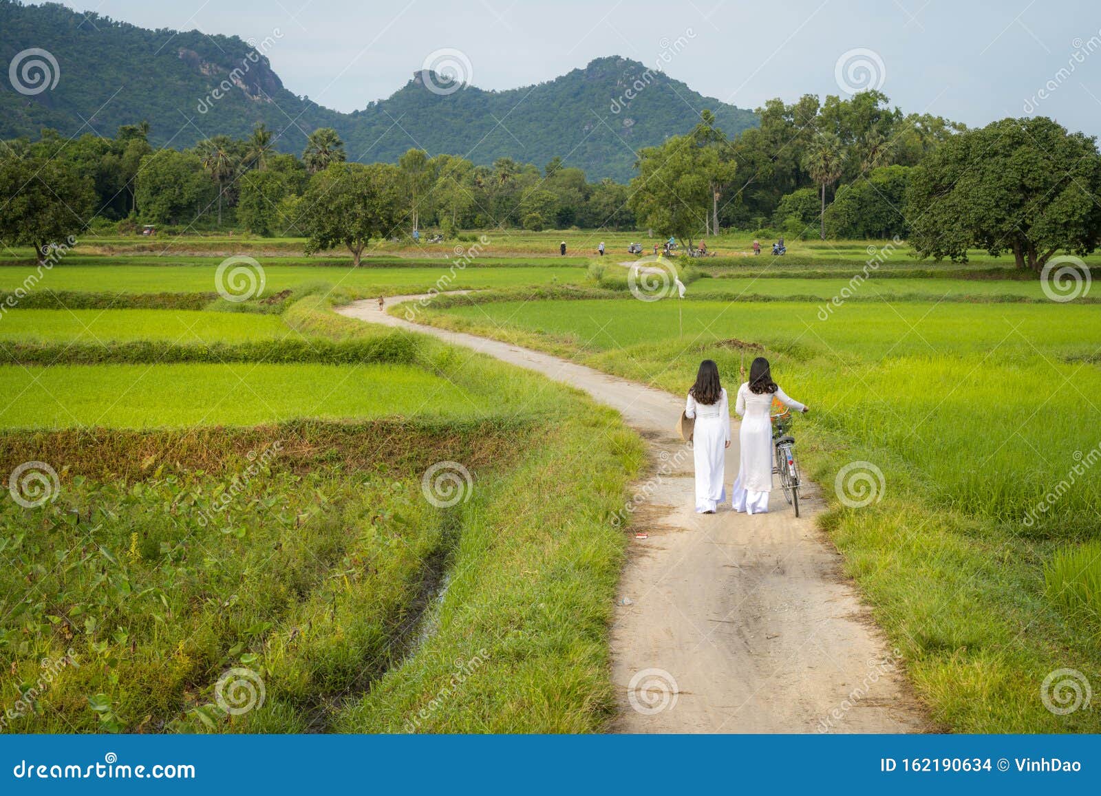
POLYGON ((0 240, 32 246, 44 264, 51 244, 83 231, 95 212, 91 178, 72 164, 37 157, 0 159, 0 240))

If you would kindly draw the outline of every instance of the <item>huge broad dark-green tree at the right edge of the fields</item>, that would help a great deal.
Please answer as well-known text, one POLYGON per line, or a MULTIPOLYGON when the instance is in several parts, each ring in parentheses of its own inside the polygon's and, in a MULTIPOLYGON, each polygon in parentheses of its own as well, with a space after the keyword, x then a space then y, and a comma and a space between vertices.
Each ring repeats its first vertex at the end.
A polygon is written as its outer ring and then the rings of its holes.
POLYGON ((971 247, 1012 251, 1042 271, 1060 249, 1101 238, 1097 140, 1046 117, 1003 119, 948 139, 911 173, 909 241, 919 257, 966 261, 971 247))

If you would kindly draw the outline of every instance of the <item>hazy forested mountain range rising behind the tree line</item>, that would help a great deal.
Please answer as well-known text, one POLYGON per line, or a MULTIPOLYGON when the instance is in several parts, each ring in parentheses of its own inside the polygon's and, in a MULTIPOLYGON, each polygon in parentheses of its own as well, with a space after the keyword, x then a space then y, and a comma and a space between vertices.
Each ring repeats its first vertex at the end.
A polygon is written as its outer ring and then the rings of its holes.
POLYGON ((557 155, 590 179, 626 181, 632 150, 687 132, 705 108, 729 135, 757 123, 752 111, 614 56, 504 91, 417 70, 388 99, 341 113, 283 86, 264 55, 275 43, 151 31, 56 3, 0 0, 0 65, 29 48, 48 51, 17 62, 14 83, 0 79, 0 139, 36 137, 44 127, 109 137, 120 124, 148 120, 154 145, 178 149, 218 133, 242 138, 263 122, 279 133, 280 150, 301 152, 309 132, 331 127, 351 160, 396 161, 413 146, 486 164, 509 156, 543 165, 557 155), (33 61, 48 81, 56 74, 56 85, 20 92, 18 86, 42 87, 33 61))

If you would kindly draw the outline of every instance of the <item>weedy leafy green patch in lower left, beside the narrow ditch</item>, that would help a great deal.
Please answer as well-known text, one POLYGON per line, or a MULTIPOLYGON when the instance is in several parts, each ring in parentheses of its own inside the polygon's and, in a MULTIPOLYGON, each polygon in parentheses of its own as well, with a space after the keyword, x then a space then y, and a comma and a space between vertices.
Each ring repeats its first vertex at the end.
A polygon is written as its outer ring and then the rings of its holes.
MULTIPOLYGON (((42 570, 25 601, 15 598, 22 567, 0 576, 9 596, 0 644, 14 673, 34 683, 36 659, 63 650, 77 664, 43 696, 48 709, 12 730, 228 727, 214 685, 233 666, 265 685, 253 719, 324 729, 323 697, 366 687, 401 653, 403 619, 442 544, 440 517, 415 478, 334 468, 299 478, 271 451, 257 451, 251 472, 239 464, 244 486, 225 504, 229 473, 78 484, 65 505, 87 524, 46 510, 30 537, 3 536, 8 556, 42 570), (43 547, 69 555, 56 563, 43 547)), ((0 513, 8 533, 23 520, 10 505, 0 513)))

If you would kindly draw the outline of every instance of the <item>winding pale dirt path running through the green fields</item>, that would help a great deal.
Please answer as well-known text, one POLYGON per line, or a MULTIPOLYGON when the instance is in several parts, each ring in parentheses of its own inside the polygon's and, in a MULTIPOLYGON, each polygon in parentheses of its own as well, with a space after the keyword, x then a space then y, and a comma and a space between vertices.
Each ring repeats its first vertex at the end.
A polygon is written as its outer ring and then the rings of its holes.
MULTIPOLYGON (((421 296, 395 296, 389 304, 421 296)), ((416 329, 585 390, 648 441, 612 629, 621 732, 920 732, 898 662, 816 528, 813 490, 796 519, 693 510, 693 461, 674 424, 683 399, 550 355, 411 324, 357 302, 342 315, 416 329)), ((727 484, 738 470, 738 440, 727 484)))

